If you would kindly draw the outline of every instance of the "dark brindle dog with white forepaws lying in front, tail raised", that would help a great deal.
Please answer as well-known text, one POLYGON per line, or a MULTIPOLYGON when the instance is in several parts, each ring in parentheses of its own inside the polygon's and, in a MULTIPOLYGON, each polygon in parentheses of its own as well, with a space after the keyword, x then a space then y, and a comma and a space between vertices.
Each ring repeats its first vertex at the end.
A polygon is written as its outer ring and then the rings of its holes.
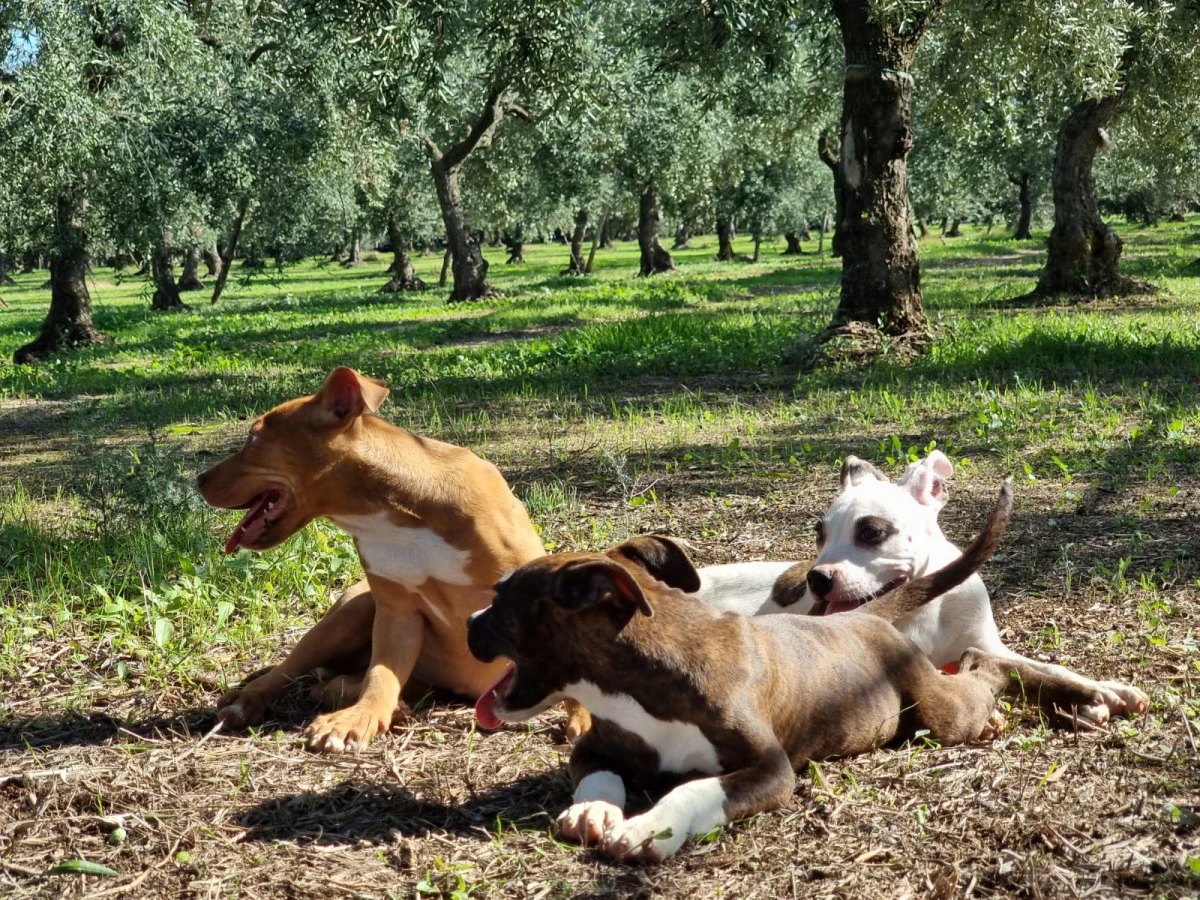
POLYGON ((593 727, 571 755, 575 803, 565 838, 600 841, 618 858, 658 860, 692 834, 785 803, 794 767, 928 733, 943 744, 991 736, 1012 674, 1026 689, 1058 684, 1021 662, 967 650, 962 673, 938 672, 890 622, 968 578, 992 553, 1012 509, 1004 485, 967 552, 862 607, 817 618, 719 613, 689 599, 700 578, 665 538, 605 556, 536 559, 497 584, 472 617, 480 660, 512 660, 479 700, 487 727, 522 721, 564 698, 593 727), (700 773, 648 812, 624 818, 625 781, 700 773))

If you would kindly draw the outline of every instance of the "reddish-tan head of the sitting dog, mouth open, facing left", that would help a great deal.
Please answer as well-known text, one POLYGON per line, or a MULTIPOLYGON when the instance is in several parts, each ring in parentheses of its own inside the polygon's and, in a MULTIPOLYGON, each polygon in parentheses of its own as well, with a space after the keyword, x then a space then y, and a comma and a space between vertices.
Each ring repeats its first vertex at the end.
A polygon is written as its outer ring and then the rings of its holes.
POLYGON ((266 550, 328 515, 323 480, 340 444, 388 396, 388 388, 341 366, 311 397, 282 403, 250 426, 241 450, 196 479, 205 502, 247 510, 226 542, 266 550))

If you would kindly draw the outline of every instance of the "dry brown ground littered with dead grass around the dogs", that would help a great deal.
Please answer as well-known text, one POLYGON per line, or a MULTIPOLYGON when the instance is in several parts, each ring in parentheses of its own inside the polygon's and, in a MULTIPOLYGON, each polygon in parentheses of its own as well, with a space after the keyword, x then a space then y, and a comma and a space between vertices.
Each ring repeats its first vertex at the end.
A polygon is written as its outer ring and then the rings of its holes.
MULTIPOLYGON (((834 491, 834 473, 823 469, 786 484, 683 470, 654 486, 659 503, 630 512, 623 499, 589 487, 583 468, 578 475, 583 515, 632 516, 636 530, 685 536, 702 564, 804 557, 811 520, 834 491)), ((994 487, 986 473, 955 485, 943 514, 948 534, 970 536, 994 487)), ((1200 756, 1186 710, 1195 707, 1200 672, 1194 654, 1177 648, 1194 648, 1200 620, 1198 568, 1188 562, 1198 538, 1183 499, 1160 505, 1141 552, 1182 562, 1153 592, 1114 589, 1094 572, 1121 536, 1114 511, 1134 497, 1132 488, 1085 496, 1064 515, 1039 485, 1020 487, 1008 550, 985 572, 1012 646, 1151 694, 1151 712, 1132 722, 1075 733, 1027 712, 1012 715, 992 744, 812 766, 785 809, 691 842, 664 865, 630 868, 550 834, 570 797, 560 710, 484 734, 467 707, 433 704, 358 756, 324 758, 300 745, 313 714, 304 685, 247 736, 208 733, 211 685, 96 695, 88 715, 40 719, 41 700, 14 684, 6 702, 19 724, 0 730, 0 893, 1194 895, 1200 756), (1074 560, 1069 580, 1064 546, 1074 560), (116 875, 47 874, 64 859, 116 875)), ((270 661, 295 636, 281 636, 245 668, 270 661)), ((53 661, 29 659, 30 677, 53 661)))

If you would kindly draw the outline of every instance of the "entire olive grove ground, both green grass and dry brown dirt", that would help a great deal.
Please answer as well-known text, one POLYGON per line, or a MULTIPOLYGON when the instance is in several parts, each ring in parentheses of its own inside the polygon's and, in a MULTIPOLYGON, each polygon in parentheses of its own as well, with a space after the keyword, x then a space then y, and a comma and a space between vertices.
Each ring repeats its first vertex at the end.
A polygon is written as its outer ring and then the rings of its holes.
MULTIPOLYGON (((1018 308, 1044 259, 979 230, 923 245, 934 349, 797 374, 838 264, 781 257, 631 277, 558 276, 527 247, 500 300, 383 295, 389 262, 308 262, 179 314, 95 272, 113 336, 0 365, 0 893, 95 896, 1079 896, 1200 890, 1200 218, 1122 227, 1154 299, 1018 308), (1018 481, 984 572, 1015 648, 1130 680, 1147 715, 1100 733, 1010 716, 991 745, 814 766, 792 803, 654 869, 548 834, 570 786, 562 714, 475 733, 431 704, 356 757, 306 754, 296 690, 251 734, 218 733, 224 685, 280 658, 358 575, 310 527, 224 558, 236 516, 196 472, 246 419, 336 365, 383 378, 382 413, 496 462, 548 548, 686 538, 701 564, 806 558, 853 452, 893 475, 934 442, 958 470, 942 515, 966 540, 1018 481), (115 818, 114 818, 115 817, 115 818), (126 836, 115 842, 114 826, 126 836), (47 875, 85 859, 115 877, 47 875)), ((739 250, 749 250, 744 244, 739 250)), ((440 257, 418 260, 437 280, 440 257)), ((0 356, 35 332, 44 272, 0 292, 0 356)))

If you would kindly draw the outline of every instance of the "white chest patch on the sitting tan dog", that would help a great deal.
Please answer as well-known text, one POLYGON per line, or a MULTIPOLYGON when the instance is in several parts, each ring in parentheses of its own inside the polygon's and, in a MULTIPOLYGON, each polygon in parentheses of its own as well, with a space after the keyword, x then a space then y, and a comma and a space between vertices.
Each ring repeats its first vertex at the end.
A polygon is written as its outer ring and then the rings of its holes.
POLYGON ((397 526, 386 512, 338 516, 334 522, 353 535, 367 575, 414 590, 430 578, 446 584, 472 583, 467 575, 470 551, 451 547, 428 528, 397 526))

